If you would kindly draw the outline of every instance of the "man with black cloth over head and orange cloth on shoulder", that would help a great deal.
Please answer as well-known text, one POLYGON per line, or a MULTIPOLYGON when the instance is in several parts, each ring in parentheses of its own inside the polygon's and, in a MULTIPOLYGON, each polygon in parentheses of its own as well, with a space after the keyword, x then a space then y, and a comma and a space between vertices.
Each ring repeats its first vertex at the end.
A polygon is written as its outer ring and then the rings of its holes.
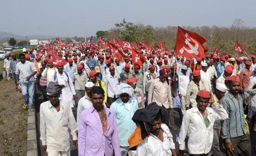
POLYGON ((161 117, 168 114, 168 110, 156 103, 151 103, 147 108, 135 112, 132 120, 140 125, 128 139, 130 147, 137 145, 137 156, 177 156, 175 144, 167 125, 163 124, 161 117), (141 141, 133 138, 141 136, 141 141), (148 132, 150 132, 148 134, 148 132), (146 138, 147 137, 147 138, 146 138), (137 142, 135 144, 135 141, 137 142))

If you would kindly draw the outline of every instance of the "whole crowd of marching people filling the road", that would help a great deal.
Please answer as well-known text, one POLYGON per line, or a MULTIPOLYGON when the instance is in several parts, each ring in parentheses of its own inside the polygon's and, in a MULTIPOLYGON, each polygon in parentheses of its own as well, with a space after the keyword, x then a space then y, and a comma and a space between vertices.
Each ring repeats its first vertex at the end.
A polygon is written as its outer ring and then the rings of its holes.
POLYGON ((177 156, 175 141, 182 156, 222 156, 222 147, 227 156, 251 155, 256 56, 152 53, 140 66, 128 50, 121 60, 104 49, 55 49, 63 61, 54 62, 44 46, 4 60, 24 109, 35 111, 35 88, 43 94, 40 139, 48 156, 69 156, 70 135, 79 156, 177 156), (174 109, 181 123, 176 140, 174 109))

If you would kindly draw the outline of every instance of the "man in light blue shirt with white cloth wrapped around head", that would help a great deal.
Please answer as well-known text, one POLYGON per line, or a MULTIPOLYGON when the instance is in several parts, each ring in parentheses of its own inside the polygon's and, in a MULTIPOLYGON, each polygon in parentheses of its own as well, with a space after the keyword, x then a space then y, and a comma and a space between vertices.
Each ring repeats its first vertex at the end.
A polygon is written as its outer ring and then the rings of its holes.
POLYGON ((117 120, 117 132, 121 149, 121 156, 135 156, 136 151, 129 150, 128 138, 134 132, 136 124, 132 121, 132 116, 138 108, 138 102, 132 97, 134 89, 121 83, 115 90, 116 97, 119 97, 110 105, 110 109, 115 113, 117 120))

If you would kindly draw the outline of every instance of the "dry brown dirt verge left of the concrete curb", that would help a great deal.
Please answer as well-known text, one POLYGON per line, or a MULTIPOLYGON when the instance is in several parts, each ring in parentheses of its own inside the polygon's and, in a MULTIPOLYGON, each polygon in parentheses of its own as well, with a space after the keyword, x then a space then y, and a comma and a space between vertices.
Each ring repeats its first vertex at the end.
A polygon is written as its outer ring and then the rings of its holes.
MULTIPOLYGON (((0 73, 3 63, 0 62, 0 73)), ((0 156, 26 156, 27 111, 13 79, 0 81, 0 156)))

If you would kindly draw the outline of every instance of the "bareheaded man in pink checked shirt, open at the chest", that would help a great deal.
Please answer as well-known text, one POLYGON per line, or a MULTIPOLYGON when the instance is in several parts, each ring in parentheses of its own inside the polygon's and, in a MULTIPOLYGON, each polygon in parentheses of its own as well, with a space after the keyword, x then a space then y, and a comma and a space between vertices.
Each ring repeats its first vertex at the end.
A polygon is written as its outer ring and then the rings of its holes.
POLYGON ((104 107, 104 90, 93 87, 92 107, 82 111, 78 124, 79 156, 120 156, 115 114, 104 107))

